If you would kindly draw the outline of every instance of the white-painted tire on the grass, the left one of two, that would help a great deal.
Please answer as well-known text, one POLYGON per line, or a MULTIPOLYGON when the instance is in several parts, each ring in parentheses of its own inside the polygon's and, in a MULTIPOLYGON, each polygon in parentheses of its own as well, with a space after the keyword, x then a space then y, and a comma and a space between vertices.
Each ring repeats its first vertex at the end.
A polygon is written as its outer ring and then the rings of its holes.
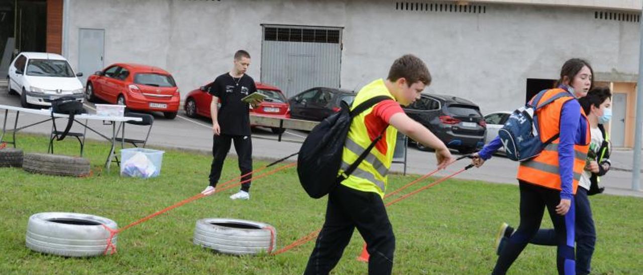
MULTIPOLYGON (((79 213, 44 212, 29 217, 26 245, 33 251, 68 257, 89 257, 104 254, 109 231, 101 225, 62 224, 51 220, 77 220, 104 224, 111 229, 113 220, 79 213)), ((116 245, 116 236, 112 244, 116 245)), ((108 252, 109 253, 109 252, 108 252)))

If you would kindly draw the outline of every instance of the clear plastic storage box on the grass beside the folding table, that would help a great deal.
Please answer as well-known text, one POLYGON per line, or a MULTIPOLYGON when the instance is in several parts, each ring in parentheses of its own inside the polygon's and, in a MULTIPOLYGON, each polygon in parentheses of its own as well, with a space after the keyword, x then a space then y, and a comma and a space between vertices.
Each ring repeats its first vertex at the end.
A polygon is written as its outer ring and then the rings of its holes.
POLYGON ((122 149, 120 173, 125 177, 156 177, 161 173, 164 153, 146 148, 122 149))

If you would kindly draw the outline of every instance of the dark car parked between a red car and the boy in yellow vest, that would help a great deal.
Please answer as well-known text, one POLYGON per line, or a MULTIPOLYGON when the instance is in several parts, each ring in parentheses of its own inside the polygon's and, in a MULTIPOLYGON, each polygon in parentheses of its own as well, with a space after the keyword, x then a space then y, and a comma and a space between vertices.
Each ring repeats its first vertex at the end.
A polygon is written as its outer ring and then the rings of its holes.
POLYGON ((340 111, 340 102, 353 103, 355 94, 345 89, 314 87, 290 98, 291 118, 322 121, 340 111))

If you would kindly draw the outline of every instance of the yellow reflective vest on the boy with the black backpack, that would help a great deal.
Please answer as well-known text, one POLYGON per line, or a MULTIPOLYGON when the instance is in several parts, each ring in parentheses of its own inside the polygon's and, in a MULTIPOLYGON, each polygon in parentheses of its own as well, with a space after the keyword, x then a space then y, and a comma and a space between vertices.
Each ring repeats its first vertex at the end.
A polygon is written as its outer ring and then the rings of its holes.
MULTIPOLYGON (((386 85, 384 85, 384 80, 379 79, 366 85, 358 92, 351 109, 376 96, 389 96, 392 100, 395 100, 386 88, 386 85)), ((353 118, 350 124, 349 135, 344 144, 341 157, 340 175, 349 168, 350 164, 358 159, 359 155, 364 152, 373 139, 381 133, 381 130, 379 130, 377 133, 369 134, 367 129, 366 120, 368 115, 373 112, 373 108, 374 107, 370 107, 366 111, 361 112, 361 114, 353 118)), ((347 179, 342 181, 341 184, 360 191, 375 192, 381 197, 384 197, 387 182, 386 174, 393 161, 396 137, 397 129, 394 127, 386 128, 385 134, 379 141, 379 143, 384 144, 378 143, 378 146, 373 147, 364 161, 359 164, 358 168, 349 175, 347 179), (381 148, 386 149, 384 152, 381 152, 381 148)))

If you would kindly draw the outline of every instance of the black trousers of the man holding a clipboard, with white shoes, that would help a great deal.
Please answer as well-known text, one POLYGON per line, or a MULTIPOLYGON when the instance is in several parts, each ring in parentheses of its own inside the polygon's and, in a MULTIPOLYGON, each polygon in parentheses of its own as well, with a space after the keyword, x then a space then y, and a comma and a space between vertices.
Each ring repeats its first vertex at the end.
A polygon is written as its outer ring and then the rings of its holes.
MULTIPOLYGON (((210 166, 210 186, 216 187, 217 182, 219 182, 223 161, 226 160, 226 156, 230 151, 230 141, 235 143, 241 175, 252 172, 252 140, 250 136, 228 136, 225 134, 214 136, 212 142, 212 166, 210 166)), ((249 179, 252 179, 252 175, 242 177, 241 181, 249 179)), ((248 192, 250 190, 250 181, 241 184, 241 190, 248 192)))

